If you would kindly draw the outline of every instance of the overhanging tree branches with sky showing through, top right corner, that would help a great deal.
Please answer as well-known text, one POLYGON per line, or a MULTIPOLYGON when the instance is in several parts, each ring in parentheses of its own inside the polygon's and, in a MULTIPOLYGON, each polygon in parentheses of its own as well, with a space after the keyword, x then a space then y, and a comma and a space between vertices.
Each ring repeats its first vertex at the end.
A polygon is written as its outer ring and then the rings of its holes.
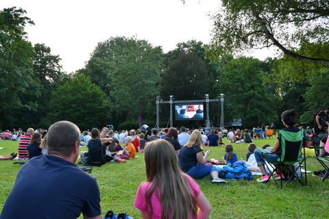
POLYGON ((223 0, 214 16, 209 57, 271 47, 284 55, 329 65, 328 56, 305 56, 296 50, 310 43, 329 42, 329 4, 324 0, 223 0))

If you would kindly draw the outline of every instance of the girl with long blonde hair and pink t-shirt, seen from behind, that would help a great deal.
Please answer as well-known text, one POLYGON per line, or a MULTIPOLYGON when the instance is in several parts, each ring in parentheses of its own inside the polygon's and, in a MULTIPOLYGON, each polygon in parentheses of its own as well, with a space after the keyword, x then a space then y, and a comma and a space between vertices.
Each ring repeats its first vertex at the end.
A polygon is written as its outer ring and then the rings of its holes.
POLYGON ((211 206, 199 185, 178 167, 173 146, 155 140, 145 146, 147 181, 137 190, 134 205, 142 218, 207 218, 211 206))

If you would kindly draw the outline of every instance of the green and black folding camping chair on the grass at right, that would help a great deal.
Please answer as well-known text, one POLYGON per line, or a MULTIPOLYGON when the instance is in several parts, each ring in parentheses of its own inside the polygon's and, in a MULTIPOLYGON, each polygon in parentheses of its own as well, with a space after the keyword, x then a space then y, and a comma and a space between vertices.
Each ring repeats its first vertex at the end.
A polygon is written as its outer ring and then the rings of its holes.
MULTIPOLYGON (((273 179, 274 174, 276 172, 283 172, 285 179, 287 182, 282 187, 282 178, 280 180, 281 188, 286 187, 291 180, 297 179, 302 185, 307 185, 307 178, 306 178, 306 159, 302 156, 302 149, 304 149, 304 131, 300 130, 298 132, 290 132, 290 131, 284 131, 281 130, 279 133, 279 142, 280 142, 280 148, 281 151, 278 151, 278 160, 276 162, 265 162, 265 165, 267 168, 271 170, 273 168, 273 171, 270 174, 270 178, 273 179), (305 168, 305 183, 302 181, 302 172, 300 169, 300 166, 304 163, 305 168), (280 170, 280 171, 278 171, 280 170)), ((262 151, 263 153, 268 153, 262 148, 257 148, 258 150, 262 151)), ((266 160, 266 159, 265 159, 266 160)), ((278 185, 278 182, 276 182, 276 185, 278 185)), ((278 185, 279 187, 279 185, 278 185)))

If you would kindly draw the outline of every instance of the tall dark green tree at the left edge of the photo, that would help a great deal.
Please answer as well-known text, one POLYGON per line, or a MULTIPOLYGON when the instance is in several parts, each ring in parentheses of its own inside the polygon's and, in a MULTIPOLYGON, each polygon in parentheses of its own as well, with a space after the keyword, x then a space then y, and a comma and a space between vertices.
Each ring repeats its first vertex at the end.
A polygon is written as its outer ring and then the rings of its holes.
POLYGON ((34 49, 26 40, 25 25, 34 25, 23 9, 0 12, 0 125, 22 128, 32 124, 25 112, 36 111, 40 83, 34 79, 34 49))

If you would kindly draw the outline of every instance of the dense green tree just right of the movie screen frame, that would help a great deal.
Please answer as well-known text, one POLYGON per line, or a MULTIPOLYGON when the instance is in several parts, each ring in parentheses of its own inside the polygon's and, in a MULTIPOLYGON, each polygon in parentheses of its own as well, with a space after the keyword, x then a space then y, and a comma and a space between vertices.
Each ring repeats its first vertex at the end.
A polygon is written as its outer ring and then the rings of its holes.
POLYGON ((263 86, 263 62, 240 57, 223 64, 223 73, 215 86, 225 95, 225 120, 241 118, 244 127, 270 124, 277 120, 278 98, 263 86))

